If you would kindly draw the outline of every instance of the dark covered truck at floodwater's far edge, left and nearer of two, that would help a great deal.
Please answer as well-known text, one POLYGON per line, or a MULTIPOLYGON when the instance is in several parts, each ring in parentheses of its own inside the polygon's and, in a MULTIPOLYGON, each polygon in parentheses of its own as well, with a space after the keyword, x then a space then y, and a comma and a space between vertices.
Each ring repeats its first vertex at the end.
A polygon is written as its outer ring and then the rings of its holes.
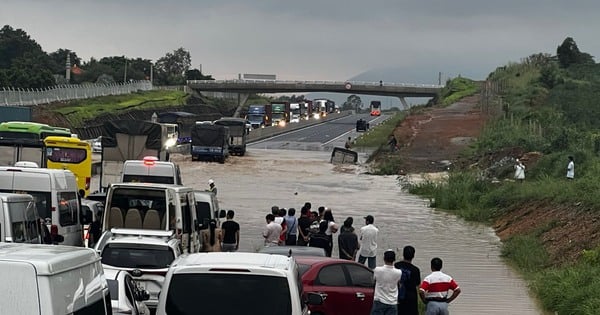
POLYGON ((190 153, 194 160, 225 163, 229 156, 229 128, 215 124, 196 124, 192 128, 190 153))

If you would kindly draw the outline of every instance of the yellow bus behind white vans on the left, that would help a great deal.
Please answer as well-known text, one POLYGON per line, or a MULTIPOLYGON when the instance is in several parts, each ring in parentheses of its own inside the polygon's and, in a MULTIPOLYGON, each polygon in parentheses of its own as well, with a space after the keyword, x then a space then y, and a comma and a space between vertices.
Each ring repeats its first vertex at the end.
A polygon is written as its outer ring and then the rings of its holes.
POLYGON ((90 194, 92 146, 81 139, 49 136, 44 139, 46 167, 71 171, 82 197, 90 194))

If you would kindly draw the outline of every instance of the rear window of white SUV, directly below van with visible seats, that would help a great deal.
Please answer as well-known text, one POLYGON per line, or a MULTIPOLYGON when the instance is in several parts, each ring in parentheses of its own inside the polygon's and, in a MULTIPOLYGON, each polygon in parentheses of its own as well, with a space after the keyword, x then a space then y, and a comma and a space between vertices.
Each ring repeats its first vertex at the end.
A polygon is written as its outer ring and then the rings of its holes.
POLYGON ((132 246, 108 244, 102 251, 102 263, 120 268, 164 269, 175 260, 168 246, 132 246))

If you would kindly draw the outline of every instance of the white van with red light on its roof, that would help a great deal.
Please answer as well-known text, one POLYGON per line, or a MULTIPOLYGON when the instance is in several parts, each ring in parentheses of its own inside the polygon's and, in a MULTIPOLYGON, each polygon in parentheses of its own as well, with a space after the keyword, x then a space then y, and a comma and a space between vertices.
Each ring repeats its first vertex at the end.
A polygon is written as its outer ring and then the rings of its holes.
POLYGON ((123 163, 122 183, 157 183, 182 185, 179 165, 159 161, 154 156, 143 160, 127 160, 123 163))

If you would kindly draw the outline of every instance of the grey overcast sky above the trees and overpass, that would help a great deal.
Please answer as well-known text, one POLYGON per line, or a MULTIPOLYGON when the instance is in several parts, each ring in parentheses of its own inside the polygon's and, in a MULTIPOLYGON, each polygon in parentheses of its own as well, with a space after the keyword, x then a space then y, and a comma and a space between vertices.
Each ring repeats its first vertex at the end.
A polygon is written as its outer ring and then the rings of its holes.
POLYGON ((591 0, 2 0, 0 23, 84 60, 155 61, 184 47, 193 68, 217 79, 483 79, 533 53, 555 54, 568 36, 600 55, 600 1, 591 0))

